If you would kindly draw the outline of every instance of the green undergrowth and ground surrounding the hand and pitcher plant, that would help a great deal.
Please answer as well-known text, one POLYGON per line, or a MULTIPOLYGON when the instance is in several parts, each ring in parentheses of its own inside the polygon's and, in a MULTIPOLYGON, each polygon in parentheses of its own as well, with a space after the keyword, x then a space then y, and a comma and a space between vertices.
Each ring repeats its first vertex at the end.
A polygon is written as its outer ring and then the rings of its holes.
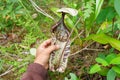
POLYGON ((50 80, 117 80, 120 78, 120 0, 0 0, 0 80, 19 80, 34 56, 30 50, 51 37, 61 7, 67 15, 71 55, 64 73, 50 80), (36 3, 39 7, 36 9, 36 3))

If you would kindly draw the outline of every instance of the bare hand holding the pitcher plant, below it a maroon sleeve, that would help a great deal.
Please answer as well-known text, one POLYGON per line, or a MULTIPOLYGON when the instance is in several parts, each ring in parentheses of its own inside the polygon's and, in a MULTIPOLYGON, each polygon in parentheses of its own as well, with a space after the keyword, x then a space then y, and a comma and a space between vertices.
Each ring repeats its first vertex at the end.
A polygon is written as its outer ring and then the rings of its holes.
POLYGON ((51 39, 44 41, 36 51, 36 58, 34 63, 41 64, 45 69, 48 69, 48 61, 50 53, 54 50, 59 49, 58 45, 52 45, 51 39))

